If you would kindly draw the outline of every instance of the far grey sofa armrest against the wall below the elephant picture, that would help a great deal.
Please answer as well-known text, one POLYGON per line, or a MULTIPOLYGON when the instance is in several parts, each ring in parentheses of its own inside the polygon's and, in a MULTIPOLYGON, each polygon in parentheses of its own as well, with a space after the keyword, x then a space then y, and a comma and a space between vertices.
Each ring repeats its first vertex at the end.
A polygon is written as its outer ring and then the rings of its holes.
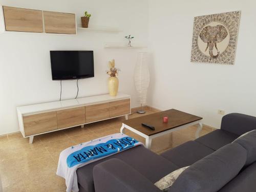
POLYGON ((256 117, 240 113, 230 113, 223 116, 221 130, 236 135, 243 135, 246 132, 256 129, 256 117))

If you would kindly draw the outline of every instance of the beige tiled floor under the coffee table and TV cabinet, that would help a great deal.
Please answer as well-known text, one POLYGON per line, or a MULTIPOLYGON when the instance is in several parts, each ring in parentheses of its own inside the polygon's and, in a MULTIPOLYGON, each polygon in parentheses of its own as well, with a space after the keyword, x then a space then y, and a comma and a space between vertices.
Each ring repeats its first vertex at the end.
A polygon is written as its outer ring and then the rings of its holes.
MULTIPOLYGON (((155 113, 147 109, 146 114, 155 113)), ((133 114, 129 118, 138 117, 133 114)), ((105 135, 118 133, 123 117, 74 127, 45 135, 35 136, 33 144, 20 133, 0 136, 0 177, 4 192, 66 191, 65 180, 56 176, 59 153, 65 148, 105 135)), ((201 135, 211 130, 206 127, 201 135)), ((196 127, 177 131, 152 140, 152 151, 162 153, 169 148, 195 139, 196 127)), ((130 135, 142 142, 143 138, 130 131, 130 135)), ((0 189, 1 190, 1 189, 0 189)))

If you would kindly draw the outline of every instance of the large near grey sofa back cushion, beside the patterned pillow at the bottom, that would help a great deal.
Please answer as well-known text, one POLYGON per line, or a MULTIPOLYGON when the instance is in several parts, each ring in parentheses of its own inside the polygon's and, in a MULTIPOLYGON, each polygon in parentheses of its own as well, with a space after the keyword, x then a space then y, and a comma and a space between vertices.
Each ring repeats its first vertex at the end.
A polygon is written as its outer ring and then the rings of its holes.
POLYGON ((184 170, 169 191, 218 191, 240 172, 246 156, 240 144, 227 144, 184 170))

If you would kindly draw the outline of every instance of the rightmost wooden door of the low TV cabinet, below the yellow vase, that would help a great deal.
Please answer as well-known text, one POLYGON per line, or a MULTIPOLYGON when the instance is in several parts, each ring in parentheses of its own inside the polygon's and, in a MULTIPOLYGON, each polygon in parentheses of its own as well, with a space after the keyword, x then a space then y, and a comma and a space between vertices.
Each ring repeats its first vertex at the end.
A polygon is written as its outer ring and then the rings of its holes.
POLYGON ((131 105, 130 99, 123 99, 110 102, 110 117, 130 114, 131 105))

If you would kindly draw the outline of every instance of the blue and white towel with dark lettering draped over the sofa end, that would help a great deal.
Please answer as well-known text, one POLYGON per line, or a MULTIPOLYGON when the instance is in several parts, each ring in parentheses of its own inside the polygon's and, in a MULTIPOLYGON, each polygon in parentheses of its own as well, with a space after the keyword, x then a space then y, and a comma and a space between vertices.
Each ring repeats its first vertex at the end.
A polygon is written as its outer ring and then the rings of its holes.
POLYGON ((67 192, 77 192, 77 168, 137 145, 143 143, 117 133, 66 148, 59 155, 57 175, 66 179, 67 192))

